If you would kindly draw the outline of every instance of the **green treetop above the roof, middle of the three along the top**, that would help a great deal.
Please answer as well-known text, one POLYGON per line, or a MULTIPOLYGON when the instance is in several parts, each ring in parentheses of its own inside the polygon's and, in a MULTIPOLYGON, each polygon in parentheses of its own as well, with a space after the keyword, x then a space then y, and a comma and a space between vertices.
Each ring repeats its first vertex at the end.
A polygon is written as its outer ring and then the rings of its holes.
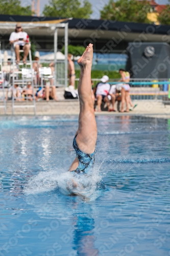
POLYGON ((89 18, 92 14, 91 4, 88 0, 50 0, 50 5, 45 5, 43 14, 55 17, 89 18))

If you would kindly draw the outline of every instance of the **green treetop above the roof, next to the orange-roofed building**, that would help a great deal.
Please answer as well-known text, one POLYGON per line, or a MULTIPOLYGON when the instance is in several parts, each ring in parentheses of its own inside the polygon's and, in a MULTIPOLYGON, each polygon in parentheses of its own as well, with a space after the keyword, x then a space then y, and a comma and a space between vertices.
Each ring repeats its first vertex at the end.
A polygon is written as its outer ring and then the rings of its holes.
POLYGON ((150 23, 147 18, 150 8, 146 0, 110 0, 101 10, 101 18, 119 22, 150 23))

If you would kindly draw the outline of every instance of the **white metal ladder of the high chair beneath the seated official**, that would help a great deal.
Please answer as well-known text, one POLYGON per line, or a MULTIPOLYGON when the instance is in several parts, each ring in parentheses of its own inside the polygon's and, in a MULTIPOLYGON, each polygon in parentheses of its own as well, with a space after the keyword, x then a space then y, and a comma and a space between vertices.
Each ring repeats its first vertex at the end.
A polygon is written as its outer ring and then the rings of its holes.
MULTIPOLYGON (((23 50, 19 50, 19 52, 23 52, 23 50)), ((18 71, 15 71, 15 51, 14 48, 12 48, 12 59, 13 59, 13 77, 12 77, 12 87, 14 89, 14 84, 18 84, 18 86, 26 85, 28 82, 31 82, 32 88, 33 88, 33 104, 15 104, 15 99, 17 97, 14 97, 14 94, 12 94, 12 115, 14 115, 14 109, 15 108, 34 108, 34 115, 36 115, 36 103, 35 103, 35 95, 34 95, 34 70, 32 65, 32 57, 31 57, 31 50, 29 50, 29 61, 26 61, 26 64, 23 64, 23 62, 19 62, 17 65, 18 71)), ((28 94, 26 97, 22 98, 29 100, 28 94)))

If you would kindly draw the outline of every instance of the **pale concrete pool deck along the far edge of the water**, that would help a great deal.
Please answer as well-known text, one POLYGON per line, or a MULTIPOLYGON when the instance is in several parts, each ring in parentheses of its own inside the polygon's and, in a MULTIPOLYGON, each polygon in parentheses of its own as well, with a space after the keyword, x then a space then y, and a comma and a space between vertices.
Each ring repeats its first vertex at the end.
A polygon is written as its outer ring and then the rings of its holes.
MULTIPOLYGON (((59 101, 45 100, 36 102, 36 115, 78 115, 79 114, 79 100, 65 100, 63 97, 63 88, 57 89, 59 101)), ((136 115, 136 116, 150 116, 158 118, 170 118, 170 105, 165 105, 161 101, 156 100, 134 100, 137 107, 129 113, 95 112, 96 115, 136 115)), ((1 102, 2 104, 2 102, 1 102)), ((16 102, 15 105, 31 105, 31 101, 16 102)), ((4 115, 4 109, 0 108, 0 115, 4 115)), ((33 115, 33 108, 16 108, 14 115, 33 115)), ((7 101, 7 115, 12 115, 12 101, 7 101)))

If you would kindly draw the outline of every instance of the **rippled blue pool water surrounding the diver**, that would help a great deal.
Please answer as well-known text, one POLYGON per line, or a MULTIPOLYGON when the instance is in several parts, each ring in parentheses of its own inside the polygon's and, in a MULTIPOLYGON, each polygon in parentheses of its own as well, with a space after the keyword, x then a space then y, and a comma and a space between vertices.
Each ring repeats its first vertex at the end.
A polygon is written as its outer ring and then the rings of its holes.
POLYGON ((170 122, 96 120, 93 173, 73 196, 78 116, 0 118, 0 255, 170 255, 170 122))

